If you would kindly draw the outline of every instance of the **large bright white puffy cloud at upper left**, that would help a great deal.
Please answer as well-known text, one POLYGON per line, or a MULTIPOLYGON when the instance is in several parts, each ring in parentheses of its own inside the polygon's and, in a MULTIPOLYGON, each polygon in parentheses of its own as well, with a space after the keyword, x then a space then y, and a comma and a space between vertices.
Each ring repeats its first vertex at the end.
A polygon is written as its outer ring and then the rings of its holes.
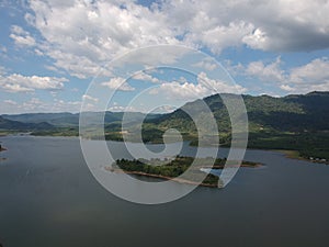
POLYGON ((179 44, 162 13, 117 1, 31 1, 34 25, 46 43, 41 47, 71 75, 94 76, 100 65, 133 48, 179 44))

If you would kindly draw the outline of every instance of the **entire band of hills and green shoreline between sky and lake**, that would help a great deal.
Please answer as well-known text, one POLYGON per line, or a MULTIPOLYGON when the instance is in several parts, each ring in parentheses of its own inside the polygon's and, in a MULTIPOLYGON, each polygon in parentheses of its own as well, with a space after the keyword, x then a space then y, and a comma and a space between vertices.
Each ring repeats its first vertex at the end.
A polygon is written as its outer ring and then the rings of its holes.
MULTIPOLYGON (((235 94, 222 94, 235 99, 235 94)), ((219 131, 220 145, 229 147, 231 124, 224 101, 218 94, 203 101, 213 112, 219 131)), ((269 96, 242 96, 249 122, 249 148, 295 150, 304 158, 329 160, 329 92, 311 92, 305 96, 273 98, 269 96)), ((184 110, 197 112, 196 121, 206 132, 208 123, 202 111, 202 101, 186 103, 169 114, 129 113, 128 124, 122 127, 123 113, 105 112, 105 138, 123 141, 123 135, 138 142, 137 120, 146 116, 141 126, 144 143, 163 143, 162 135, 169 128, 178 130, 184 141, 198 145, 197 130, 184 110)), ((238 114, 238 113, 237 113, 238 114)), ((98 139, 101 127, 97 126, 100 112, 88 113, 90 130, 83 137, 98 139)), ((2 133, 32 132, 33 135, 78 136, 79 114, 37 113, 0 116, 2 133)), ((211 133, 211 132, 208 132, 211 133)), ((209 139, 211 136, 209 136, 209 139)), ((213 145, 209 141, 208 145, 213 145)))

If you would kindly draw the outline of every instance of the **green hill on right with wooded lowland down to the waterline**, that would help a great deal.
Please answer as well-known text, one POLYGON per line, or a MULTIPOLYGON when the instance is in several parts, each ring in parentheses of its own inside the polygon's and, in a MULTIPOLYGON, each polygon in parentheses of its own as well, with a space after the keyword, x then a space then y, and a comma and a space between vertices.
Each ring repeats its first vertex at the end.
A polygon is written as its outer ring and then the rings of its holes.
MULTIPOLYGON (((223 94, 234 98, 235 94, 223 94)), ((329 160, 329 92, 310 92, 305 96, 273 98, 270 96, 242 96, 249 121, 249 148, 292 149, 303 157, 329 160)), ((218 124, 220 143, 230 144, 230 120, 220 96, 204 99, 218 124)), ((186 103, 177 111, 148 121, 154 132, 178 128, 185 139, 197 145, 196 127, 183 111, 197 111, 201 101, 186 103)), ((202 123, 202 112, 196 116, 202 123)), ((204 120, 206 125, 206 120, 204 120)), ((149 136, 149 135, 148 135, 149 136)))

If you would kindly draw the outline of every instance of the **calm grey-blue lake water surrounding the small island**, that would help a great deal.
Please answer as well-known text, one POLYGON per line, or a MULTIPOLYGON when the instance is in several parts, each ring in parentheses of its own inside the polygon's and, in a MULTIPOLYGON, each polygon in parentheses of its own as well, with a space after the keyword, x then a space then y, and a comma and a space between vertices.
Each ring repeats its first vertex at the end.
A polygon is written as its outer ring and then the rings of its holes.
MULTIPOLYGON (((0 154, 8 158, 0 161, 4 247, 329 246, 329 166, 249 150, 245 159, 265 167, 240 169, 224 190, 198 188, 169 204, 137 205, 94 180, 77 138, 0 141, 9 149, 0 154)), ((111 147, 128 157, 121 143, 111 147)), ((184 145, 183 155, 194 153, 184 145)))

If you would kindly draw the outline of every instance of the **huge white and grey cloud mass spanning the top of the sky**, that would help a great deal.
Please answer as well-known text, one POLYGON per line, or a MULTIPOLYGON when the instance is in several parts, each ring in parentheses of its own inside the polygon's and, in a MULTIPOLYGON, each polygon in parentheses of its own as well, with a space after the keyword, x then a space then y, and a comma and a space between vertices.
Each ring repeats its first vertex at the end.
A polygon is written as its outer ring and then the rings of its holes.
MULTIPOLYGON (((39 54, 79 78, 94 76, 100 64, 117 55, 149 45, 183 44, 214 54, 241 45, 280 52, 329 47, 328 1, 160 0, 150 8, 114 0, 29 3, 32 11, 25 19, 44 40, 39 54)), ((22 45, 35 43, 16 26, 12 38, 22 45)), ((145 55, 146 60, 174 60, 174 54, 145 55)))

